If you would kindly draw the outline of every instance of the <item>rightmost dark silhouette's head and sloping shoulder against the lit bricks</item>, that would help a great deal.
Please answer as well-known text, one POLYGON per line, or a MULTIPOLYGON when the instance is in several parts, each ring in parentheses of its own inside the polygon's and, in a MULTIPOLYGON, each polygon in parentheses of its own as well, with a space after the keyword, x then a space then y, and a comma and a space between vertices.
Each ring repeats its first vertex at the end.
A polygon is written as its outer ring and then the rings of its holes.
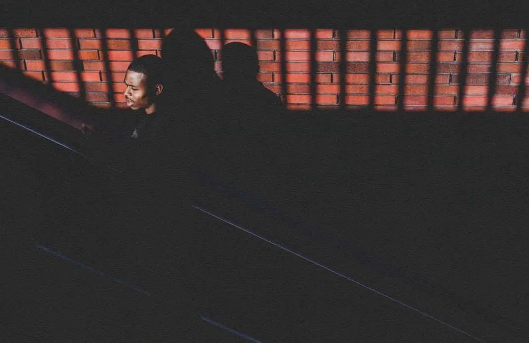
POLYGON ((259 60, 253 47, 239 42, 222 47, 223 88, 231 110, 282 109, 279 97, 257 80, 258 73, 259 60))

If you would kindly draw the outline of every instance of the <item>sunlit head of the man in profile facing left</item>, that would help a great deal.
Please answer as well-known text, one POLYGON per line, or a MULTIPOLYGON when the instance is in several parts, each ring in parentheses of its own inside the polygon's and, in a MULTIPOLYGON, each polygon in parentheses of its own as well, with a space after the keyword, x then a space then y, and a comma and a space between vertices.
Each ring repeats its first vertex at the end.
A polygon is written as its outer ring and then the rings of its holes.
POLYGON ((155 55, 136 58, 125 74, 125 100, 132 110, 156 111, 156 101, 163 90, 162 59, 155 55))

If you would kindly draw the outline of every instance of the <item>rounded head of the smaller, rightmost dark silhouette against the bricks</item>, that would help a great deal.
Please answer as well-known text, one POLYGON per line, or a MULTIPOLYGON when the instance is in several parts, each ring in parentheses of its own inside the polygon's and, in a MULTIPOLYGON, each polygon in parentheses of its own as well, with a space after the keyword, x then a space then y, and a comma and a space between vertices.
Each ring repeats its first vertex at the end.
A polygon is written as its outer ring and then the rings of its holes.
POLYGON ((255 80, 259 73, 256 50, 250 45, 234 42, 222 47, 222 75, 224 80, 255 80))

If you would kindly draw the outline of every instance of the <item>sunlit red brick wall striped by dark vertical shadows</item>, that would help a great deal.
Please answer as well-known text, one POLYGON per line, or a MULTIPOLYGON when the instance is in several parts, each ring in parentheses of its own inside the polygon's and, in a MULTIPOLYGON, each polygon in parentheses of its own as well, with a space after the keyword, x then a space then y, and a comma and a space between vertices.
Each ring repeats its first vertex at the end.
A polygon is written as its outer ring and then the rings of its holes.
MULTIPOLYGON (((163 29, 167 34, 170 29, 163 29)), ((205 40, 215 58, 215 69, 221 75, 221 32, 215 28, 196 30, 205 40)), ((333 108, 340 101, 340 38, 338 30, 315 31, 316 47, 316 104, 318 108, 333 108)), ((276 29, 256 30, 255 37, 260 59, 259 79, 277 94, 281 93, 281 61, 286 58, 286 100, 291 109, 309 109, 311 103, 311 33, 308 30, 285 30, 285 56, 281 55, 280 34, 276 29)), ((161 34, 158 29, 136 29, 138 55, 161 55, 161 34)), ((400 73, 400 30, 377 30, 375 105, 377 109, 396 108, 400 73)), ((113 78, 113 91, 117 106, 124 106, 123 76, 133 58, 130 31, 125 28, 106 30, 108 60, 113 78)), ((252 44, 250 30, 225 29, 226 43, 240 41, 252 44)), ((407 63, 404 88, 404 106, 407 110, 426 108, 428 71, 432 31, 407 31, 407 63)), ((370 31, 348 30, 346 40, 345 104, 358 108, 369 103, 370 31)), ((503 30, 497 64, 496 93, 492 98, 497 111, 512 111, 521 79, 525 32, 518 29, 503 30)), ((440 110, 455 110, 459 101, 459 71, 463 48, 463 32, 446 29, 439 31, 437 74, 434 106, 440 110)), ((470 32, 467 87, 463 108, 483 110, 487 103, 488 76, 491 72, 494 32, 470 32)), ((19 28, 14 40, 8 31, 0 29, 0 63, 20 68, 34 79, 52 82, 58 90, 78 96, 78 78, 83 82, 87 101, 96 106, 110 106, 108 82, 103 60, 101 31, 94 28, 74 30, 74 36, 63 28, 19 28), (44 61, 44 44, 48 50, 49 70, 44 61), (12 51, 15 44, 16 51, 12 51), (78 70, 74 58, 77 52, 78 70), (19 56, 20 66, 15 56, 19 56)), ((525 103, 524 103, 524 109, 525 103)), ((529 109, 529 102, 527 102, 529 109)))

